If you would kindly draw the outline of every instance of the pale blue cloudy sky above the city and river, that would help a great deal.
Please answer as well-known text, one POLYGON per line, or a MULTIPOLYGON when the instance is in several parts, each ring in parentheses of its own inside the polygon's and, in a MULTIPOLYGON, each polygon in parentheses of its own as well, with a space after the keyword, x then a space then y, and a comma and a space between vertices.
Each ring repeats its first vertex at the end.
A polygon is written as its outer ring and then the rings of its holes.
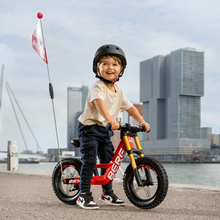
MULTIPOLYGON (((119 86, 139 103, 140 62, 192 47, 205 53, 205 95, 201 127, 220 134, 220 2, 217 0, 0 0, 0 68, 43 152, 56 148, 52 103, 45 62, 33 50, 30 37, 42 12, 61 148, 67 146, 67 87, 91 85, 95 51, 104 44, 120 46, 127 68, 119 86)), ((15 106, 16 109, 16 106, 15 106)), ((37 144, 16 110, 29 150, 37 144)), ((4 86, 0 112, 0 151, 15 140, 26 149, 4 86)))

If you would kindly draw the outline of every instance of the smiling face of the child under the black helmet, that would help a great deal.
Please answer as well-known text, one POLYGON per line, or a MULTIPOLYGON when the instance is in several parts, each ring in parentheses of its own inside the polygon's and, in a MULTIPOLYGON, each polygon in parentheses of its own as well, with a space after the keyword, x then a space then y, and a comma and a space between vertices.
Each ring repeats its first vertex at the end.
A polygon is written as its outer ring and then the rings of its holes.
POLYGON ((103 57, 99 61, 97 72, 109 81, 114 81, 121 73, 122 67, 112 57, 103 57))

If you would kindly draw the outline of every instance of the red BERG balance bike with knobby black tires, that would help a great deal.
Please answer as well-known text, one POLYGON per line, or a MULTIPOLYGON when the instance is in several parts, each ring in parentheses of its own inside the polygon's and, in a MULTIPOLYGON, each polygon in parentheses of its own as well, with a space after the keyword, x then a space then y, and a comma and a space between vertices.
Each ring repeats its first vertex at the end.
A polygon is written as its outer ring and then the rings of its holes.
MULTIPOLYGON (((106 129, 111 129, 108 124, 106 129)), ((163 166, 155 159, 144 156, 137 133, 145 131, 145 127, 125 124, 120 127, 121 142, 110 163, 97 164, 91 185, 106 185, 114 180, 125 154, 130 158, 130 164, 125 170, 123 186, 127 198, 141 209, 152 209, 158 206, 166 197, 168 177, 163 166), (133 140, 136 144, 134 149, 133 140), (137 155, 137 158, 134 157, 137 155), (106 172, 100 176, 98 168, 106 172)), ((79 141, 73 145, 79 147, 79 141)), ((82 162, 75 158, 66 158, 57 163, 52 174, 52 185, 56 196, 64 203, 75 205, 79 196, 80 170, 82 162), (62 165, 62 169, 61 169, 62 165)))

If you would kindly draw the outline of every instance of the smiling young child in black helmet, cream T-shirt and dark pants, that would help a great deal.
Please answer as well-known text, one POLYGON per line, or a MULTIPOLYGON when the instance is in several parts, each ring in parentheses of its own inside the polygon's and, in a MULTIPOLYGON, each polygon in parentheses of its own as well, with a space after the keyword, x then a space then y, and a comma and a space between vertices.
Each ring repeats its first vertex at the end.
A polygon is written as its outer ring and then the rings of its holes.
MULTIPOLYGON (((110 137, 119 128, 116 121, 119 111, 127 111, 141 126, 150 130, 138 110, 128 101, 123 90, 115 82, 123 75, 126 68, 123 50, 116 45, 103 45, 95 53, 93 72, 99 78, 91 87, 84 113, 79 117, 78 136, 82 153, 80 173, 80 195, 77 204, 84 209, 98 209, 90 192, 90 182, 96 165, 97 155, 100 163, 109 163, 113 157, 114 147, 110 137), (112 131, 105 129, 110 123, 112 131)), ((101 170, 101 174, 105 169, 101 170)), ((102 186, 100 201, 109 205, 125 205, 112 190, 112 184, 102 186)))

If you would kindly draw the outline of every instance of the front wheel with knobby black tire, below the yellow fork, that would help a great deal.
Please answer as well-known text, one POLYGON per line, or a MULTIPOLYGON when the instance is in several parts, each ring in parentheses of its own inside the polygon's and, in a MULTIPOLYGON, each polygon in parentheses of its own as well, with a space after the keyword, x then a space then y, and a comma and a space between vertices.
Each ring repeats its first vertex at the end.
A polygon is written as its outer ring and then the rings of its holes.
POLYGON ((141 209, 155 208, 164 200, 168 191, 166 171, 157 160, 150 157, 141 157, 135 161, 144 186, 137 185, 133 168, 129 164, 123 178, 125 194, 131 203, 141 209), (153 185, 149 184, 145 169, 150 172, 153 185))

